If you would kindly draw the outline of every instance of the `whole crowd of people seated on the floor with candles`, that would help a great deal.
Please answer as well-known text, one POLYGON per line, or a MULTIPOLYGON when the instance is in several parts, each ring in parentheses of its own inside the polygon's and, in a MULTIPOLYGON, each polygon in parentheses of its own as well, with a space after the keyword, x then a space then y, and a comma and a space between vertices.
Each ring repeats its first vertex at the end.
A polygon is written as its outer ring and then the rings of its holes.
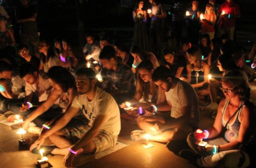
MULTIPOLYGON (((65 166, 78 167, 116 145, 122 118, 140 127, 131 132, 134 141, 150 134, 150 141, 168 142, 171 151, 198 166, 247 167, 254 162, 250 71, 233 41, 209 42, 203 36, 192 46, 183 39, 177 50, 163 49, 159 64, 154 53, 139 46, 129 53, 123 43, 111 44, 108 38, 100 43, 92 35, 86 39, 84 49, 58 39, 51 49, 41 41, 40 59, 20 44, 22 59, 15 58, 20 66, 15 59, 0 59, 0 113, 19 114, 25 130, 30 122, 41 128, 32 153, 44 148, 45 154, 64 155, 65 166), (215 122, 199 131, 199 104, 208 97, 206 108, 216 110, 215 122), (44 145, 47 138, 54 145, 44 145), (203 147, 198 146, 202 139, 207 142, 203 147)), ((15 119, 6 116, 9 122, 15 119)))

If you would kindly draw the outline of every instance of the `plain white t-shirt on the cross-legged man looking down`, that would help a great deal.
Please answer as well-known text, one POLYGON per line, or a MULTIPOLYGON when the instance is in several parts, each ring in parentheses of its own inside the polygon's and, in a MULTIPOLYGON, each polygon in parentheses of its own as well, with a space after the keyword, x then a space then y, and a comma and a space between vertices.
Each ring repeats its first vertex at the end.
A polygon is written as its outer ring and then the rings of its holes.
POLYGON ((171 117, 177 119, 183 116, 182 107, 191 105, 192 123, 199 122, 198 97, 194 88, 185 81, 178 81, 175 88, 165 92, 166 100, 172 104, 171 117))

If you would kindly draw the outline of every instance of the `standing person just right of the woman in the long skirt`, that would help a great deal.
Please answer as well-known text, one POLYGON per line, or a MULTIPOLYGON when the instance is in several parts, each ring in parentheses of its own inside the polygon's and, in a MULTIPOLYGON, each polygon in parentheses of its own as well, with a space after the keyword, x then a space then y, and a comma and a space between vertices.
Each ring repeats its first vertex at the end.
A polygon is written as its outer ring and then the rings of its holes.
POLYGON ((163 18, 166 17, 166 12, 163 11, 163 6, 158 0, 149 0, 152 4, 151 26, 150 26, 150 40, 153 52, 160 58, 160 52, 164 48, 163 43, 163 18))

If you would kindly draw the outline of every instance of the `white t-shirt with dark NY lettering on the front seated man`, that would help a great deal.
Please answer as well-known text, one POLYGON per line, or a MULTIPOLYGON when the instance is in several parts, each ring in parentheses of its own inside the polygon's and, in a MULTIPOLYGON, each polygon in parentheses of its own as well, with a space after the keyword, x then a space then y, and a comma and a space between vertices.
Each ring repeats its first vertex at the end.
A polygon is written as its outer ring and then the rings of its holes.
POLYGON ((101 130, 107 130, 113 135, 118 135, 121 130, 120 112, 114 98, 99 87, 96 88, 96 95, 92 101, 88 101, 85 94, 74 98, 72 107, 80 108, 84 116, 89 120, 91 127, 96 116, 108 115, 107 121, 102 125, 101 130))

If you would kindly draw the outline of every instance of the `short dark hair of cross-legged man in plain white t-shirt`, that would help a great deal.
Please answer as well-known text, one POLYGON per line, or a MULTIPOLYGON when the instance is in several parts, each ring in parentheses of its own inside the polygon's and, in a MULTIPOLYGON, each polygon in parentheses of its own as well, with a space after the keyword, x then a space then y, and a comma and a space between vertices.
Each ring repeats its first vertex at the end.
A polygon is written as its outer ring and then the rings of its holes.
POLYGON ((171 77, 172 79, 175 78, 174 75, 172 75, 171 70, 165 66, 157 67, 152 74, 153 81, 161 80, 168 82, 169 77, 171 77))

